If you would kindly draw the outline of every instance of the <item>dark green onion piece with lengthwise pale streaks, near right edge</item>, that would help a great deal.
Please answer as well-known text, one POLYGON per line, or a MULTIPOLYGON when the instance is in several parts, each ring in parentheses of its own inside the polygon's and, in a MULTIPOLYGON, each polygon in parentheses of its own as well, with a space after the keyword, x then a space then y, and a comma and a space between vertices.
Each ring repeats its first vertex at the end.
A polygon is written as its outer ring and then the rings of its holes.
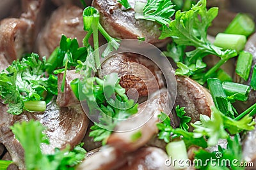
POLYGON ((250 92, 250 86, 225 81, 222 83, 222 87, 227 96, 232 96, 234 99, 239 101, 247 101, 250 92))

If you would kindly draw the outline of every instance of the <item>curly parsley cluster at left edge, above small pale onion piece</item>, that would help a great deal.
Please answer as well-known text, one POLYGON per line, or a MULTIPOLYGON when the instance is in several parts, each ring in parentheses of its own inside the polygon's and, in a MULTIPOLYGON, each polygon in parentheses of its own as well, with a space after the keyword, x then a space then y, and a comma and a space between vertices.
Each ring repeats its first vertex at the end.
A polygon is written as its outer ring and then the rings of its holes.
POLYGON ((0 73, 0 96, 8 104, 8 113, 19 115, 25 108, 26 101, 44 99, 43 92, 54 93, 47 78, 44 77, 45 58, 32 53, 28 59, 13 61, 6 71, 0 73), (48 82, 47 82, 48 81, 48 82), (47 90, 48 89, 48 90, 47 90))

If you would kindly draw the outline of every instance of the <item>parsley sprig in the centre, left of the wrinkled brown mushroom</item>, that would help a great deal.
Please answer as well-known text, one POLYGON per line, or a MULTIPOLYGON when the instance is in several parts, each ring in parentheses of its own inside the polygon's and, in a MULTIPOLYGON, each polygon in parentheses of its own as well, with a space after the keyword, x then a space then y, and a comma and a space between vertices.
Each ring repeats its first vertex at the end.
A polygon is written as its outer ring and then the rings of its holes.
POLYGON ((93 131, 89 136, 94 141, 102 141, 102 145, 106 144, 106 139, 118 122, 138 111, 138 104, 128 99, 119 81, 118 75, 111 73, 104 76, 103 80, 91 77, 80 82, 90 114, 99 113, 99 122, 91 127, 93 131))

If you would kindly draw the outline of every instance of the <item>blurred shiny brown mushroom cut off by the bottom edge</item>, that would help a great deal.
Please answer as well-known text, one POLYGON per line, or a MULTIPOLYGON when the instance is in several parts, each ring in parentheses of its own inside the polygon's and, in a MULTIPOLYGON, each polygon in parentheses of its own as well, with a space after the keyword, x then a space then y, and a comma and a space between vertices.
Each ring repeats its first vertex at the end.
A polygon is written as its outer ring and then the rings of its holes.
POLYGON ((171 170, 173 167, 166 166, 165 162, 168 160, 168 155, 156 147, 140 148, 134 153, 127 156, 127 163, 118 168, 119 170, 171 170))

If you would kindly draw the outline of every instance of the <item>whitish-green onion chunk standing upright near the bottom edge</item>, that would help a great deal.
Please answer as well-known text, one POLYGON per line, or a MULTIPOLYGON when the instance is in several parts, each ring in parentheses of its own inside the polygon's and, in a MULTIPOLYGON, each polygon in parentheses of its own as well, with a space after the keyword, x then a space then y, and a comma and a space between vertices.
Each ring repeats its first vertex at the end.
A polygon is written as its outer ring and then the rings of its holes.
POLYGON ((174 166, 174 169, 184 169, 186 167, 186 160, 188 160, 188 153, 184 141, 172 141, 166 145, 166 152, 172 158, 169 161, 183 161, 183 164, 175 164, 175 162, 169 162, 174 166))

